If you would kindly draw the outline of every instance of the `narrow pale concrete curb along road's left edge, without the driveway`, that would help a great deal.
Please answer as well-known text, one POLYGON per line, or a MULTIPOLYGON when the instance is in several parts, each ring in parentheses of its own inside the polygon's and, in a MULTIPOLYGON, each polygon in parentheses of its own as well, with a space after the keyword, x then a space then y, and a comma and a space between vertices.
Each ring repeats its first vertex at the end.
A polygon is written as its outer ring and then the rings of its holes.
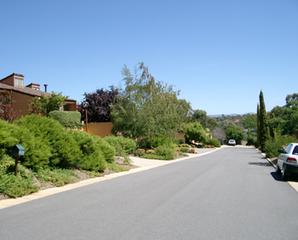
POLYGON ((62 187, 48 188, 48 189, 41 190, 41 191, 38 191, 36 193, 26 195, 26 196, 20 197, 20 198, 10 198, 10 199, 0 200, 0 210, 3 209, 3 208, 12 207, 12 206, 22 204, 22 203, 26 203, 26 202, 29 202, 29 201, 33 201, 33 200, 36 200, 36 199, 48 197, 48 196, 58 194, 58 193, 61 193, 61 192, 66 192, 66 191, 69 191, 69 190, 73 190, 73 189, 76 189, 76 188, 79 188, 79 187, 88 186, 90 184, 103 182, 103 181, 118 178, 118 177, 121 177, 121 176, 125 176, 125 175, 129 175, 129 174, 134 174, 134 173, 150 170, 150 169, 153 169, 153 168, 156 168, 156 167, 165 166, 165 165, 173 164, 173 163, 176 163, 176 162, 181 162, 181 161, 187 160, 187 159, 202 157, 204 155, 216 152, 220 149, 221 148, 216 148, 216 149, 212 149, 208 152, 204 152, 204 153, 201 153, 201 154, 193 154, 191 156, 179 158, 179 159, 176 159, 176 160, 162 161, 162 162, 160 160, 154 160, 154 161, 156 161, 155 165, 140 166, 138 168, 130 169, 129 171, 126 171, 126 172, 112 173, 112 174, 109 174, 109 175, 105 175, 103 177, 89 178, 89 179, 86 179, 86 180, 83 180, 83 181, 80 181, 80 182, 67 184, 67 185, 64 185, 62 187))

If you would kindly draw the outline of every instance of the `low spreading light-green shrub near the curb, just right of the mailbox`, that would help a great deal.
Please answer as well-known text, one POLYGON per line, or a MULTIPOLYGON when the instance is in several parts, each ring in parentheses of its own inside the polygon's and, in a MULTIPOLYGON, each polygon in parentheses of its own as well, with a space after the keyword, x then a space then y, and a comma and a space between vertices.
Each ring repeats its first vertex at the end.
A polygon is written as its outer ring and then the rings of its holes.
POLYGON ((78 180, 73 170, 70 169, 40 169, 36 177, 44 182, 51 182, 54 186, 60 187, 78 180))

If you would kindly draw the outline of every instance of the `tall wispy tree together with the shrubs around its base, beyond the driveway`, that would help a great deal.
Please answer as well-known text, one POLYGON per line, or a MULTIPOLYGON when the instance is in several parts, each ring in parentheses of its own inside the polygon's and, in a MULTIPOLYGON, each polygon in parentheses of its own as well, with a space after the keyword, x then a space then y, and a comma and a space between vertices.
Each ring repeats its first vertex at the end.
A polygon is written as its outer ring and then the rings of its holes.
POLYGON ((143 63, 134 74, 125 66, 122 74, 124 88, 111 106, 113 131, 135 139, 138 156, 170 160, 182 154, 181 143, 219 146, 198 121, 202 114, 198 116, 172 86, 157 81, 143 63), (185 138, 178 139, 178 133, 185 138))

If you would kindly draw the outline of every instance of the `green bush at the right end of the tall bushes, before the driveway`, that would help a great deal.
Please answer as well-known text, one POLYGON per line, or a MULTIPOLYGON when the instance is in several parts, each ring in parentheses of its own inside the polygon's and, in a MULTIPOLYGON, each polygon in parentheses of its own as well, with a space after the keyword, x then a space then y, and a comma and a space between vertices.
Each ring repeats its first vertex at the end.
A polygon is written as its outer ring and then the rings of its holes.
POLYGON ((76 163, 77 167, 103 172, 106 168, 106 161, 98 138, 79 131, 73 132, 72 135, 81 151, 81 157, 76 163))

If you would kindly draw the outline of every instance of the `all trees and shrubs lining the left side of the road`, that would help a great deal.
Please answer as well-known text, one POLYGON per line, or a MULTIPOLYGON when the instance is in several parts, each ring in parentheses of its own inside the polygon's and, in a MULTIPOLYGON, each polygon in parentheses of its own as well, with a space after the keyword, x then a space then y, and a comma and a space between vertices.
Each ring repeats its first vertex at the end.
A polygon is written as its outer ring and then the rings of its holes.
POLYGON ((80 112, 64 112, 60 93, 35 98, 32 115, 14 122, 0 120, 0 198, 128 170, 129 155, 172 160, 195 147, 219 147, 217 122, 193 110, 170 85, 157 81, 143 64, 132 73, 123 68, 123 89, 85 93, 80 112), (81 121, 112 121, 114 136, 80 131, 81 121), (15 175, 12 148, 21 144, 15 175))

